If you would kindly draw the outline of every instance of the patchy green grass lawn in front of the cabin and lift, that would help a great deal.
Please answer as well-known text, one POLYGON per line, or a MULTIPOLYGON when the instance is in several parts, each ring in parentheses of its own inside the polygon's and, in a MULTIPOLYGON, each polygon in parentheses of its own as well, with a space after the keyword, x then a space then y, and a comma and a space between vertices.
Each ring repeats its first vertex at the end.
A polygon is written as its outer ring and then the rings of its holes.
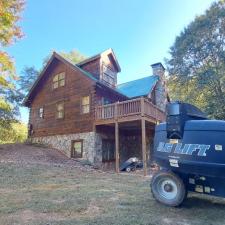
POLYGON ((181 208, 152 198, 149 179, 76 168, 0 164, 0 225, 223 224, 225 200, 189 195, 181 208))

